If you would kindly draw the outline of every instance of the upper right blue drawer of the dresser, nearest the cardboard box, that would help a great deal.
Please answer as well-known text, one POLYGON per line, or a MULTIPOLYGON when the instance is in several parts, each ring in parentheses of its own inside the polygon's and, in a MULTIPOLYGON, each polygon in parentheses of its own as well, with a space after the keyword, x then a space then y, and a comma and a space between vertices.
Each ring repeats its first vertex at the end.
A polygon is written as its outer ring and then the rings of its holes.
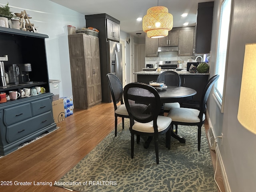
POLYGON ((33 101, 31 102, 31 106, 33 116, 52 110, 52 102, 50 98, 33 101))

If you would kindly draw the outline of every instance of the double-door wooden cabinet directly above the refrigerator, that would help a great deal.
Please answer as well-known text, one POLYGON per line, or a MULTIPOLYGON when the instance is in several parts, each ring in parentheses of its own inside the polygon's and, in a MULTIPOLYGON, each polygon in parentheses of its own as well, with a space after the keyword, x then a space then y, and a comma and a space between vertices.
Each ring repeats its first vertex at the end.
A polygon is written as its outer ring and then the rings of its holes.
POLYGON ((118 41, 120 40, 120 27, 119 24, 110 20, 106 19, 107 22, 107 38, 110 40, 118 41))

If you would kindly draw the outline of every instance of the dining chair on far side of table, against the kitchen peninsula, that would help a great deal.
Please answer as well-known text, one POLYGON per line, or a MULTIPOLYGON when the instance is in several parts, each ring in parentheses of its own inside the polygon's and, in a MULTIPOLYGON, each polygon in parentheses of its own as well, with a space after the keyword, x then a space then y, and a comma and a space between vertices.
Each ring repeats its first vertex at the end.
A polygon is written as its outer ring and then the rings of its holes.
MULTIPOLYGON (((156 82, 164 82, 166 86, 180 86, 181 78, 180 75, 175 71, 164 71, 158 76, 156 82)), ((169 112, 172 108, 177 107, 180 107, 180 104, 178 102, 165 103, 164 112, 169 112)))

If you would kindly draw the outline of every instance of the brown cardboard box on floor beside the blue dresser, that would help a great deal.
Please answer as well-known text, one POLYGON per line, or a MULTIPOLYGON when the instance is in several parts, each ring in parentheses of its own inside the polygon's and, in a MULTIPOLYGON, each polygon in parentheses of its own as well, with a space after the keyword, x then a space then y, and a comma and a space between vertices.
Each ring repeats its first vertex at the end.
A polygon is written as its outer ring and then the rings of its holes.
POLYGON ((63 99, 53 101, 52 110, 53 110, 53 118, 55 123, 59 123, 65 120, 63 99))

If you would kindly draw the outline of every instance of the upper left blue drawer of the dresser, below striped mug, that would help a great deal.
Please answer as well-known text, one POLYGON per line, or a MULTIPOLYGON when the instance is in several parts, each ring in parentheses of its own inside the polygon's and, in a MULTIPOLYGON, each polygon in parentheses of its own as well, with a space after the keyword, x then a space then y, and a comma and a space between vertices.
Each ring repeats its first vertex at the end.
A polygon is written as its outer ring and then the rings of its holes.
POLYGON ((32 117, 30 103, 4 109, 4 124, 6 126, 32 117))

